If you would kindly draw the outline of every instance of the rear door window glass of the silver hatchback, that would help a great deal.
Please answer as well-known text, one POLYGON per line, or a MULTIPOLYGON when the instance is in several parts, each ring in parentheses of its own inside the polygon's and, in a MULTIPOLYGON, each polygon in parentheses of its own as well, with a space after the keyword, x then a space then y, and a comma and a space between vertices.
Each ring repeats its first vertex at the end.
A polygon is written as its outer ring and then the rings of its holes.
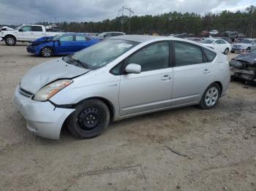
POLYGON ((175 42, 174 47, 176 66, 203 63, 203 54, 200 47, 183 42, 175 42))

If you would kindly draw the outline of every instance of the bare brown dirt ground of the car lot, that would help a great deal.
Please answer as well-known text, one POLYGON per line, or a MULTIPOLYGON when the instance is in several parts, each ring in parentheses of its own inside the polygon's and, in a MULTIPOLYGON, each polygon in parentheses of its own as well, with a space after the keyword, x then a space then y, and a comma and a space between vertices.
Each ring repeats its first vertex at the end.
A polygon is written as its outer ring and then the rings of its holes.
POLYGON ((256 190, 255 86, 232 82, 216 109, 135 117, 89 140, 63 130, 50 141, 29 133, 12 106, 20 77, 47 60, 0 43, 0 190, 256 190))

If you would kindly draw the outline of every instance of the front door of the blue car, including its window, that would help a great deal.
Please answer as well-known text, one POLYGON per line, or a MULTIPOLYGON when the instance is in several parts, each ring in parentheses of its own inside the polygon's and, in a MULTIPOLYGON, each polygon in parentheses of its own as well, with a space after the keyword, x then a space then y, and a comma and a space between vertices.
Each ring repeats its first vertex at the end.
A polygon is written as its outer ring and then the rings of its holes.
POLYGON ((55 52, 59 55, 69 55, 76 51, 75 36, 64 35, 61 36, 58 43, 55 43, 55 52))

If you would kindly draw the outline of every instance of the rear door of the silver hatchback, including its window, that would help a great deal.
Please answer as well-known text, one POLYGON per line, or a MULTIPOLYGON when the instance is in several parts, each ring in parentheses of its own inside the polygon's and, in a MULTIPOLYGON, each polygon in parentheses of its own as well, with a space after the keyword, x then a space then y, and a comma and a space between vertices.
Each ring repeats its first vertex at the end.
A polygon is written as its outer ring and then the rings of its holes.
MULTIPOLYGON (((173 42, 173 48, 175 66, 173 67, 172 105, 197 104, 211 82, 213 63, 206 61, 203 48, 195 44, 173 42)), ((212 52, 212 55, 213 61, 216 53, 212 52)))

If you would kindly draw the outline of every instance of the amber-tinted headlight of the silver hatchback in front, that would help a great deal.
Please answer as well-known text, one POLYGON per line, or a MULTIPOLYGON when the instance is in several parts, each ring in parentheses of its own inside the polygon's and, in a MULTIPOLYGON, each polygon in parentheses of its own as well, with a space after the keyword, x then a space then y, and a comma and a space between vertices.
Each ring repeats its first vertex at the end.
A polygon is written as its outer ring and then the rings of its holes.
POLYGON ((62 90, 64 87, 67 87, 73 82, 71 79, 61 79, 56 82, 52 82, 48 85, 45 85, 45 87, 42 87, 35 95, 34 100, 35 101, 47 101, 53 95, 58 93, 60 90, 62 90))

